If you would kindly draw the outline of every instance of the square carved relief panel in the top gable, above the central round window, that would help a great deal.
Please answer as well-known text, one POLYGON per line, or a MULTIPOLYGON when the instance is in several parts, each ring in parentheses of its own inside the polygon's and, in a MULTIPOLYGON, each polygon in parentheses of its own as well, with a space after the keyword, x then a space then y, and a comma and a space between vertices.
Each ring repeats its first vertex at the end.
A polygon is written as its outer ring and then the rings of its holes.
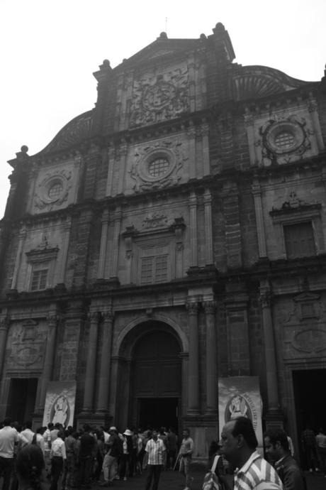
POLYGON ((147 75, 133 84, 130 127, 155 124, 189 111, 188 69, 147 75))

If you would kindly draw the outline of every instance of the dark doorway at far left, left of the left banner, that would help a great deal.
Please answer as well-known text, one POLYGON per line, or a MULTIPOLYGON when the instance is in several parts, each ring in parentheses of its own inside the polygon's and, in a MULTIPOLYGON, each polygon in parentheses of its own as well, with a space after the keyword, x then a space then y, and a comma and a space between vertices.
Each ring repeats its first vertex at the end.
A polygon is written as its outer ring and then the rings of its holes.
POLYGON ((37 378, 11 378, 6 415, 19 423, 32 420, 37 388, 37 378))

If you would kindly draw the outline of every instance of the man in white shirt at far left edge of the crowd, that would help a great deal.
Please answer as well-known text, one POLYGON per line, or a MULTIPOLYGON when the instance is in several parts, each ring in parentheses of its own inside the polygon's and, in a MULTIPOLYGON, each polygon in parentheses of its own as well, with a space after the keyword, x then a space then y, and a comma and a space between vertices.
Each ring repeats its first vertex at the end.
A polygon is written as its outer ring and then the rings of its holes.
POLYGON ((11 419, 4 420, 4 428, 0 430, 0 474, 4 478, 2 490, 8 490, 13 471, 13 450, 18 444, 18 432, 11 427, 11 419))

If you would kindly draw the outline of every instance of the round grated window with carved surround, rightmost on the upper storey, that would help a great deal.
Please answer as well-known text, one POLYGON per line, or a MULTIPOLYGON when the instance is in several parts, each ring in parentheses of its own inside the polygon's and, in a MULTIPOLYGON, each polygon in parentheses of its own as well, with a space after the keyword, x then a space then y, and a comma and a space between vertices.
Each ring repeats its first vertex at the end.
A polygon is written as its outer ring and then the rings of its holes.
POLYGON ((311 147, 309 136, 313 134, 307 129, 304 118, 289 116, 269 119, 260 127, 262 141, 262 157, 270 163, 290 163, 297 160, 311 147))

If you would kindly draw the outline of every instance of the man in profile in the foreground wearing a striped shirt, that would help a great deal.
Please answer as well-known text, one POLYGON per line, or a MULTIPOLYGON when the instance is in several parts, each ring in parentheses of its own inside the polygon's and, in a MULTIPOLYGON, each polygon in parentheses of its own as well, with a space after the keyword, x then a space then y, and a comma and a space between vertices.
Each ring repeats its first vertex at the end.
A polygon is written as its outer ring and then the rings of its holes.
POLYGON ((220 445, 227 461, 236 468, 234 490, 283 490, 275 469, 256 451, 258 441, 249 418, 227 422, 220 445))

